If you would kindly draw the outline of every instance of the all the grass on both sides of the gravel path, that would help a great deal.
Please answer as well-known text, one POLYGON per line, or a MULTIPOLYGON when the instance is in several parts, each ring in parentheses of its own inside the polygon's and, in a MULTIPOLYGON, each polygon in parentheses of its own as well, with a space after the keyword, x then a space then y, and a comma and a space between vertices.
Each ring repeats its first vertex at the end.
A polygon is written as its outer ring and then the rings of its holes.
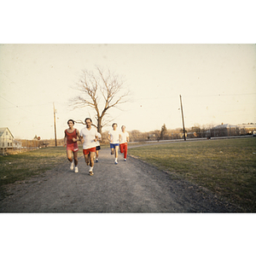
MULTIPOLYGON (((244 212, 256 212, 255 137, 147 145, 129 148, 129 154, 168 171, 172 178, 183 178, 212 190, 244 212)), ((26 180, 65 161, 64 147, 0 155, 0 184, 26 180)))

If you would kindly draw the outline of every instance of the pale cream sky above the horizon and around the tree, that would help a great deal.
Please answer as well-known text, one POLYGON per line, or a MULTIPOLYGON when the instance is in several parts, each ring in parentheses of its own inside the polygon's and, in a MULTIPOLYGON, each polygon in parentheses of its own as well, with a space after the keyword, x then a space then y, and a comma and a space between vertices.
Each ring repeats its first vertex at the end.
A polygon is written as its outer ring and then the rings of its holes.
POLYGON ((0 57, 0 127, 17 138, 54 138, 53 102, 58 138, 93 117, 67 102, 95 65, 125 77, 133 100, 109 113, 127 131, 182 127, 179 95, 187 128, 256 123, 255 44, 1 44, 0 57))

